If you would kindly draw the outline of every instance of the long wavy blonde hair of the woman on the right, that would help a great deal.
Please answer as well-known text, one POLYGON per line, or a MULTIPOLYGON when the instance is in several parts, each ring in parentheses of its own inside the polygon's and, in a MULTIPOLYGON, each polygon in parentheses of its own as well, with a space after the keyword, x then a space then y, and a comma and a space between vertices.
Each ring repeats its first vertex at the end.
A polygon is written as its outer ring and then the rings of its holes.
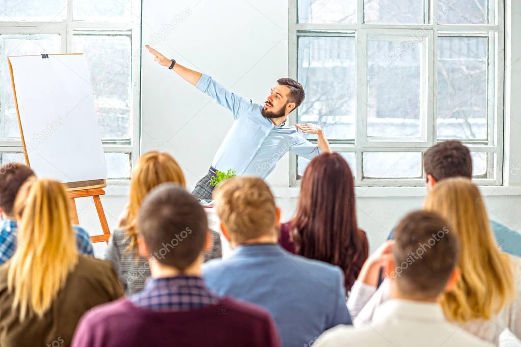
POLYGON ((441 298, 453 322, 492 319, 515 295, 513 265, 495 243, 478 188, 468 178, 443 179, 427 196, 425 210, 441 214, 460 239, 461 278, 441 298))

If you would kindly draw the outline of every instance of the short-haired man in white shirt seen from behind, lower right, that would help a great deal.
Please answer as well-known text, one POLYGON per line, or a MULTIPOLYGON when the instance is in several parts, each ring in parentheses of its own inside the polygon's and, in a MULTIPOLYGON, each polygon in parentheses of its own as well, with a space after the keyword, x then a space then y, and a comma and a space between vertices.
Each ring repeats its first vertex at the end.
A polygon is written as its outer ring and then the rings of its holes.
POLYGON ((370 325, 338 326, 320 336, 316 345, 493 346, 447 322, 437 303, 459 277, 458 240, 449 223, 436 213, 413 212, 400 222, 395 237, 386 266, 391 274, 389 300, 378 307, 370 325), (421 252, 421 245, 433 246, 421 252))

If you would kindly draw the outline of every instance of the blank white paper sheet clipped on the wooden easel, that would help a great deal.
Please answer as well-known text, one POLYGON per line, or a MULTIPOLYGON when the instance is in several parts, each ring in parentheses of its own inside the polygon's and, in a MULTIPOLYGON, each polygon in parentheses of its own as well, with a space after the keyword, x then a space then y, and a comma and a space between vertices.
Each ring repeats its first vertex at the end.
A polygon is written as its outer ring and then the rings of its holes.
POLYGON ((9 57, 31 169, 61 182, 107 178, 83 55, 9 57))

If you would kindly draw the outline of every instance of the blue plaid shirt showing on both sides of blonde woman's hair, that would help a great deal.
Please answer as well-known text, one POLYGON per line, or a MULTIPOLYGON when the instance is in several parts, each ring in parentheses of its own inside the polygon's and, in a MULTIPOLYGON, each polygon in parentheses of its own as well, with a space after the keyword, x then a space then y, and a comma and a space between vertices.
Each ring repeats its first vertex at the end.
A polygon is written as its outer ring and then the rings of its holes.
MULTIPOLYGON (((0 264, 5 263, 11 256, 15 254, 16 250, 16 230, 18 229, 15 220, 4 220, 2 229, 0 229, 0 264)), ((94 256, 91 238, 89 233, 80 226, 74 225, 72 227, 76 234, 76 244, 78 251, 86 255, 94 256)))

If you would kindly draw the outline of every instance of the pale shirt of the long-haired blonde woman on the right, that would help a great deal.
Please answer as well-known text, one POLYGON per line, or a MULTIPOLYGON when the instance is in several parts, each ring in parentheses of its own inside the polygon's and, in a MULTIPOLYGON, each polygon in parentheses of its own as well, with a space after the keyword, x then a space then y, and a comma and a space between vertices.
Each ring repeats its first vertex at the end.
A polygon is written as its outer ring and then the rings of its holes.
MULTIPOLYGON (((515 299, 510 305, 503 309, 492 320, 476 319, 464 324, 459 324, 462 329, 472 333, 480 339, 499 345, 500 335, 506 329, 521 339, 521 259, 510 256, 514 264, 515 299)), ((384 281, 378 290, 373 286, 365 285, 356 281, 351 288, 348 308, 353 325, 364 326, 373 320, 380 305, 388 300, 391 289, 388 281, 384 281)))

